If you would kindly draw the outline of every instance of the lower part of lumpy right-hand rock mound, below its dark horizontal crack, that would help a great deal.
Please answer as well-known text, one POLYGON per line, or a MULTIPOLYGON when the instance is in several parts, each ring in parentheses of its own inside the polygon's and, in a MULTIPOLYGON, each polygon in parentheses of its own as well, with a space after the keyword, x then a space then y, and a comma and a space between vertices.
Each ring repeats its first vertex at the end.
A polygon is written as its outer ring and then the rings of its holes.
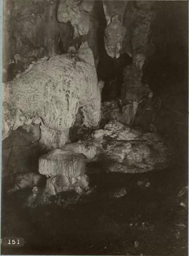
POLYGON ((111 172, 138 173, 167 168, 170 157, 165 144, 157 150, 156 143, 150 141, 132 141, 116 144, 109 152, 113 161, 111 172))

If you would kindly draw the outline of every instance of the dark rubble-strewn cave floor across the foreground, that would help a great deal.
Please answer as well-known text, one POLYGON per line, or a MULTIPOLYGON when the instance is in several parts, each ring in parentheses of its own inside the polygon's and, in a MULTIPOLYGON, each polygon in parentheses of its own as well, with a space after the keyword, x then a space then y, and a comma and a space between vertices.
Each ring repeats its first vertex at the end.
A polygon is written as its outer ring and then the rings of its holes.
POLYGON ((141 174, 107 173, 90 163, 91 193, 76 201, 63 192, 66 205, 52 198, 36 208, 23 207, 32 189, 8 196, 2 188, 2 237, 22 237, 24 246, 1 253, 187 255, 187 192, 177 196, 187 185, 186 170, 179 163, 141 174), (120 194, 123 188, 127 194, 120 194))

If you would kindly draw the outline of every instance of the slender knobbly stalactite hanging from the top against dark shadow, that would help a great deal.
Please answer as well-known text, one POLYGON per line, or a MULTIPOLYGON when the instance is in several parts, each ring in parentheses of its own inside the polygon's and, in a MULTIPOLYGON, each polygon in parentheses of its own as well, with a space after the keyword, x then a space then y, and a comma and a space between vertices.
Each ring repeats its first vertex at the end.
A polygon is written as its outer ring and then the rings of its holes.
POLYGON ((103 1, 103 9, 107 20, 104 44, 111 58, 119 58, 126 29, 123 26, 123 15, 127 1, 103 1))

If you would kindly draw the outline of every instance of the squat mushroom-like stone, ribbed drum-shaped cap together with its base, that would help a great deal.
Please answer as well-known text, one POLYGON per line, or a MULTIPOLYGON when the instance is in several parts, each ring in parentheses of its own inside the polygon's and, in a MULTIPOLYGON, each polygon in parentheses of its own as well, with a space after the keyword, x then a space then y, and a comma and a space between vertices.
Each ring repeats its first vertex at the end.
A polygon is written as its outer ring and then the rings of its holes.
POLYGON ((87 158, 84 154, 65 150, 52 150, 39 159, 40 174, 49 177, 46 188, 55 195, 67 190, 82 193, 88 188, 88 177, 84 174, 87 158))

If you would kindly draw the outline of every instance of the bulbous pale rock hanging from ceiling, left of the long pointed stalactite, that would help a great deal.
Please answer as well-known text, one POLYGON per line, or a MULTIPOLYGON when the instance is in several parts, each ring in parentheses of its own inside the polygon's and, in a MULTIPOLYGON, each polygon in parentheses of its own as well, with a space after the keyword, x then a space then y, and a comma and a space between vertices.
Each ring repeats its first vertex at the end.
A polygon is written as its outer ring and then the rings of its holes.
POLYGON ((57 10, 59 22, 71 22, 74 27, 74 38, 83 36, 90 29, 90 12, 94 1, 60 0, 57 10))

